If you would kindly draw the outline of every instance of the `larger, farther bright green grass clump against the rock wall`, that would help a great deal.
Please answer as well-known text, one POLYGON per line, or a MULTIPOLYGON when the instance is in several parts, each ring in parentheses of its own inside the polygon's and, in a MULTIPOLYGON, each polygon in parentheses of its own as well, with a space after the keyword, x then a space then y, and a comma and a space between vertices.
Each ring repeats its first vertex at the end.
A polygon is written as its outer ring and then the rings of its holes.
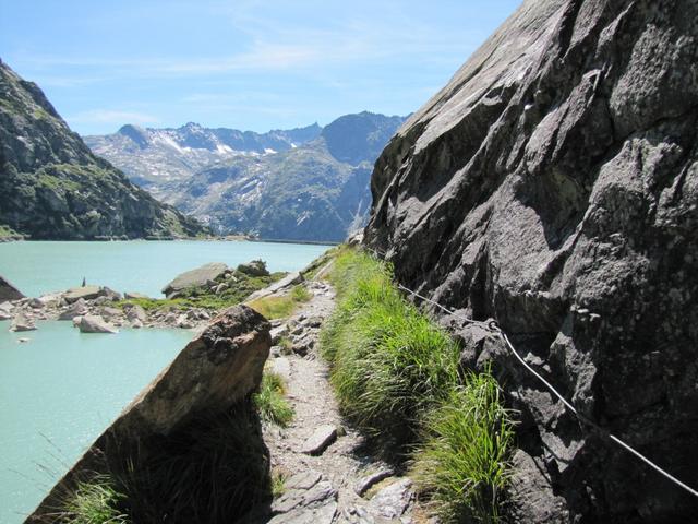
POLYGON ((459 348, 395 288, 389 269, 346 251, 330 277, 339 303, 321 335, 344 413, 398 446, 458 380, 459 348))

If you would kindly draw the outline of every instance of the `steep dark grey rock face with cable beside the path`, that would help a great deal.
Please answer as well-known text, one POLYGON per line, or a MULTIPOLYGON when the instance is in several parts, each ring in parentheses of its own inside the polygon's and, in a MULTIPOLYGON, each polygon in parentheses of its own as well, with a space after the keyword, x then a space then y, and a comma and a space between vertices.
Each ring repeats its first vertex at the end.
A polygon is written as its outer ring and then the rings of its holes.
MULTIPOLYGON (((698 4, 527 0, 390 141, 369 246, 495 318, 587 417, 698 486, 698 4)), ((591 434, 506 352, 516 522, 688 522, 698 500, 591 434)))

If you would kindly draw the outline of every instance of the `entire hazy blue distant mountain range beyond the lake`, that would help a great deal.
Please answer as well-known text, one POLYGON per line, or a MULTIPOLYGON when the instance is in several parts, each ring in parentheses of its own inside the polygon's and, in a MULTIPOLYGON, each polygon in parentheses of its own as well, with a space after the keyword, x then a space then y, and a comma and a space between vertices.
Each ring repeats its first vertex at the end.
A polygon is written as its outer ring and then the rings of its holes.
POLYGON ((365 222, 373 163, 404 120, 364 111, 268 133, 129 124, 85 142, 216 233, 340 241, 365 222))

